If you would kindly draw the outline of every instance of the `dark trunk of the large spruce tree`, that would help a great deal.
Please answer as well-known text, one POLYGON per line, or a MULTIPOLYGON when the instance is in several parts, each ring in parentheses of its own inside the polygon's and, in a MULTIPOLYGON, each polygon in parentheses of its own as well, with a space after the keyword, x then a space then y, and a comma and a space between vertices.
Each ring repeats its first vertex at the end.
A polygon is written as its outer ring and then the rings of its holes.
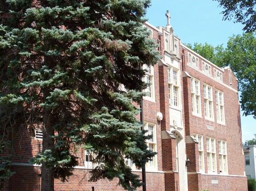
MULTIPOLYGON (((54 116, 50 111, 45 111, 43 127, 43 152, 45 150, 54 149, 54 135, 53 129, 54 116)), ((47 167, 45 163, 42 164, 42 177, 41 177, 41 191, 54 191, 54 166, 47 167)))

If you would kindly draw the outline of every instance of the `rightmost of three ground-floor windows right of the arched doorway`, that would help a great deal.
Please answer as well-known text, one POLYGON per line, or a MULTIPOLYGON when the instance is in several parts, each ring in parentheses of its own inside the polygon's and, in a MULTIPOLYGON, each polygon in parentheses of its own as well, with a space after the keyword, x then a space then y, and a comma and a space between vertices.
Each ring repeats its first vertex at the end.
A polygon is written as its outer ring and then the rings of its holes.
POLYGON ((228 172, 228 159, 227 159, 227 142, 219 140, 219 161, 220 161, 220 172, 228 172))

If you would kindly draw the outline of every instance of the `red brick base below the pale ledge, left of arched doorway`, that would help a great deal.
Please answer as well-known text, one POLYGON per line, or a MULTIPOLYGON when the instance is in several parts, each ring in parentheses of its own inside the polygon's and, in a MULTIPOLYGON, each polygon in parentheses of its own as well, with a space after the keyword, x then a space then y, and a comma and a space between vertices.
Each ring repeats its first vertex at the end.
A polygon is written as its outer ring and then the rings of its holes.
MULTIPOLYGON (((40 191, 40 168, 14 166, 12 168, 16 173, 9 181, 9 188, 3 191, 40 191)), ((135 172, 141 175, 140 172, 135 172)), ((147 191, 164 191, 164 173, 146 173, 147 191)), ((124 191, 118 185, 118 180, 99 180, 97 182, 89 182, 90 173, 87 170, 74 170, 74 175, 67 182, 55 180, 55 191, 124 191)), ((141 191, 142 188, 138 189, 141 191)))

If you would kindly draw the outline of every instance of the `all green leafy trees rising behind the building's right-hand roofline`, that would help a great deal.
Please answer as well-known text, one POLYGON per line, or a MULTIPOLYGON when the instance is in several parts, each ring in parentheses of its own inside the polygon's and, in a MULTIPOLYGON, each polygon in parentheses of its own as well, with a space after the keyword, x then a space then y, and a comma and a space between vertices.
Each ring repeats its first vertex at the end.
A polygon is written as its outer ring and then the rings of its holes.
POLYGON ((256 118, 256 33, 243 33, 229 38, 227 48, 195 43, 190 48, 218 66, 230 66, 241 91, 244 115, 256 118))

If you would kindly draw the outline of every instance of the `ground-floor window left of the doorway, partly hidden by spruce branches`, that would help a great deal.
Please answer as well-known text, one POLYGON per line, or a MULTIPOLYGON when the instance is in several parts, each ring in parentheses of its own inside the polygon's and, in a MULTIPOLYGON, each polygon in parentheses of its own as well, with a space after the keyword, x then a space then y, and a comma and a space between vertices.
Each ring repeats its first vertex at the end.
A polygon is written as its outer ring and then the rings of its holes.
MULTIPOLYGON (((147 130, 147 134, 151 135, 152 137, 150 139, 147 139, 147 145, 148 149, 151 150, 152 152, 156 152, 156 126, 155 124, 151 123, 144 123, 144 129, 147 130)), ((153 157, 151 161, 149 161, 146 164, 147 168, 149 169, 156 169, 157 168, 157 158, 156 155, 153 157)))

